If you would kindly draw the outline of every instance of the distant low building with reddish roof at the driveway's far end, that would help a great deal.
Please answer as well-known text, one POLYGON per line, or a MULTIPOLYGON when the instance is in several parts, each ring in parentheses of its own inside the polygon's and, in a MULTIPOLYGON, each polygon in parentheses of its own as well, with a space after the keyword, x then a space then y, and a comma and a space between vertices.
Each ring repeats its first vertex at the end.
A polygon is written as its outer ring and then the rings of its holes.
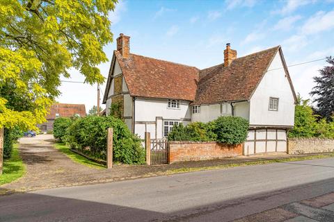
POLYGON ((41 132, 47 132, 54 129, 54 119, 58 117, 86 117, 86 108, 84 104, 66 104, 54 103, 51 105, 49 114, 47 114, 47 122, 38 125, 41 132))

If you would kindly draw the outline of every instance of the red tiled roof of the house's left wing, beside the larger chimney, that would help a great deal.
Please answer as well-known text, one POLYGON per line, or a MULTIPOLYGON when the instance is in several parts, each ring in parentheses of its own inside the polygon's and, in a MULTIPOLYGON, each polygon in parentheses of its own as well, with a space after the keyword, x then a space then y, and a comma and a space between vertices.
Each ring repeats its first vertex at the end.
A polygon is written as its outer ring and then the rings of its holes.
POLYGON ((131 96, 193 101, 199 69, 174 62, 115 51, 131 96))

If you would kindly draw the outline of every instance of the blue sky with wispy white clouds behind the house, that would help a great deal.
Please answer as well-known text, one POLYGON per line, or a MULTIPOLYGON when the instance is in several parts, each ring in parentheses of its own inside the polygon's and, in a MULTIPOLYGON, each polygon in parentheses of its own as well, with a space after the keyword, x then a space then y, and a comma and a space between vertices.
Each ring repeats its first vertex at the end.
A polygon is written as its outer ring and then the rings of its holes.
MULTIPOLYGON (((281 45, 287 65, 334 56, 334 0, 287 1, 120 1, 109 15, 114 42, 105 47, 111 60, 119 33, 129 35, 135 54, 200 69, 223 62, 225 44, 246 56, 281 45)), ((324 60, 289 67, 296 92, 309 98, 312 77, 324 60)), ((100 65, 107 77, 110 62, 100 65)), ((84 80, 71 70, 71 80, 84 80)), ((104 93, 105 84, 101 86, 104 93)), ((97 103, 96 85, 63 83, 61 103, 97 103)), ((104 107, 104 105, 102 105, 104 107)))

